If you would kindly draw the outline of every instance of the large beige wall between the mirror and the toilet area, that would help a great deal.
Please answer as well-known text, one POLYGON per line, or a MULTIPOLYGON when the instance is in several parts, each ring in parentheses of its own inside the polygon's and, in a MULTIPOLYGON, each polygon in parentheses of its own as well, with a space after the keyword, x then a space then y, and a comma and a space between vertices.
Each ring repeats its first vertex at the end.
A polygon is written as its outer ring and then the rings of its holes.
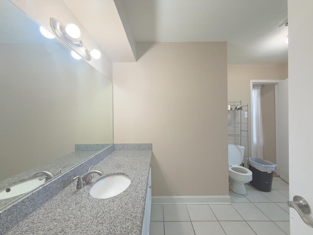
POLYGON ((153 144, 154 196, 228 195, 226 43, 138 43, 113 63, 114 142, 153 144))

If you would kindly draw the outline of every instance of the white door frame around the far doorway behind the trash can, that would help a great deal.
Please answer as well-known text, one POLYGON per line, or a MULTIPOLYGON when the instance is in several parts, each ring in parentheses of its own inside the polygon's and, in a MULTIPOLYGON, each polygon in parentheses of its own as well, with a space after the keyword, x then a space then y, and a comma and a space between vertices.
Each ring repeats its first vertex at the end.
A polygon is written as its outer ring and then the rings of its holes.
MULTIPOLYGON (((252 128, 252 89, 253 89, 253 85, 275 85, 275 136, 276 136, 276 174, 279 175, 279 158, 277 158, 277 149, 278 149, 278 146, 277 146, 277 133, 278 133, 278 83, 280 83, 281 81, 283 80, 250 80, 250 110, 251 110, 251 115, 250 115, 250 133, 251 133, 251 154, 250 156, 252 156, 252 153, 253 153, 253 128, 252 128)), ((253 157, 253 156, 252 156, 253 157)))

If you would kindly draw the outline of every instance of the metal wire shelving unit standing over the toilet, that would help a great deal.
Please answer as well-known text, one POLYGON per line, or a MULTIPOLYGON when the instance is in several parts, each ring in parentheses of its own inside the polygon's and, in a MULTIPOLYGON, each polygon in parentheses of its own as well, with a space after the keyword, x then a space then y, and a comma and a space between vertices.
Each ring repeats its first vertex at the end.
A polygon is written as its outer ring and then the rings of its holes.
POLYGON ((249 106, 242 101, 228 102, 232 110, 228 110, 228 143, 245 147, 245 157, 249 158, 249 106), (235 109, 235 107, 242 109, 235 109))

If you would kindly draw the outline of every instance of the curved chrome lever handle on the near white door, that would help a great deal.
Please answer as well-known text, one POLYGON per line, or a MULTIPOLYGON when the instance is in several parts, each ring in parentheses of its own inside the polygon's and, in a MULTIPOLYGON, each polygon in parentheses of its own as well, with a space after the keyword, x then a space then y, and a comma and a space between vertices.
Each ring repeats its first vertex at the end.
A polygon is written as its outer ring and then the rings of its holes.
POLYGON ((313 228, 313 219, 309 216, 311 213, 309 203, 301 196, 294 196, 292 200, 293 201, 287 201, 288 206, 295 209, 301 219, 313 228))

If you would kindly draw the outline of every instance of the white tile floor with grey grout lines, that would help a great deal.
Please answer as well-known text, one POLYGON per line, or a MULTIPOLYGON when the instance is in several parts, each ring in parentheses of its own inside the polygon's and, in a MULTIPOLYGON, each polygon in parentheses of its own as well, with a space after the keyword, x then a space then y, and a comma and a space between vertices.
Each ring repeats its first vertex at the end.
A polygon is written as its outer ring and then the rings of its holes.
POLYGON ((290 235, 289 185, 274 177, 270 192, 246 189, 229 190, 231 204, 152 205, 150 235, 290 235))

